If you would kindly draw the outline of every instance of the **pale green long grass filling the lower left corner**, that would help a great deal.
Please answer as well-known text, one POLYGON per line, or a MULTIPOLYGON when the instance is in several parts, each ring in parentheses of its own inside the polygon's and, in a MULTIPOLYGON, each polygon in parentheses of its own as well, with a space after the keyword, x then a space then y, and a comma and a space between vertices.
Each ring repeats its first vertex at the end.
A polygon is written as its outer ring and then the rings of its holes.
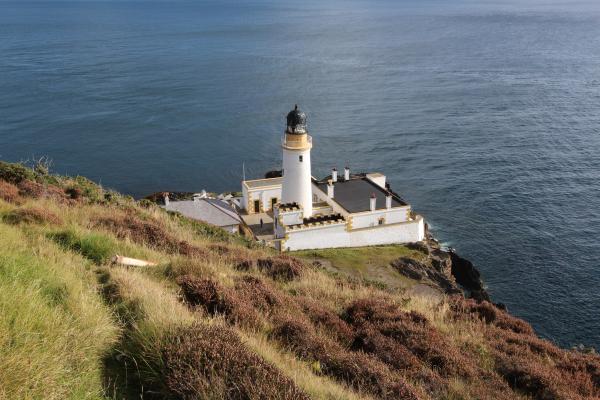
POLYGON ((0 237, 0 398, 104 398, 117 327, 86 262, 18 228, 0 237))

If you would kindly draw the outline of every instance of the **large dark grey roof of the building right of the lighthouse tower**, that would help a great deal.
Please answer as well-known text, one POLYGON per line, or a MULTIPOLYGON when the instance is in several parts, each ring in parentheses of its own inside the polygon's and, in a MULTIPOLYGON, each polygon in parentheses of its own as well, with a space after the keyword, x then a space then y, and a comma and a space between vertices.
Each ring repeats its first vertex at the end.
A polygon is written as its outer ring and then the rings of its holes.
MULTIPOLYGON (((327 193, 327 180, 314 182, 319 189, 327 193)), ((353 177, 350 180, 338 180, 333 184, 333 200, 350 213, 369 211, 371 195, 375 194, 377 210, 385 209, 385 197, 388 191, 365 177, 353 177)), ((392 207, 408 205, 397 194, 392 194, 392 207)))

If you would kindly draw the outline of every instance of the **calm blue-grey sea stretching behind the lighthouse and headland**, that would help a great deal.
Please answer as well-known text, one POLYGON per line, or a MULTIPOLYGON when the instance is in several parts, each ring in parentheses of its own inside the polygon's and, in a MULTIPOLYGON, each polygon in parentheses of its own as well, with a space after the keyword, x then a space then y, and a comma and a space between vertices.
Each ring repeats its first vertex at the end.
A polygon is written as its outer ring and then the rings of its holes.
POLYGON ((600 348, 600 2, 0 2, 0 159, 134 196, 382 171, 495 301, 600 348))

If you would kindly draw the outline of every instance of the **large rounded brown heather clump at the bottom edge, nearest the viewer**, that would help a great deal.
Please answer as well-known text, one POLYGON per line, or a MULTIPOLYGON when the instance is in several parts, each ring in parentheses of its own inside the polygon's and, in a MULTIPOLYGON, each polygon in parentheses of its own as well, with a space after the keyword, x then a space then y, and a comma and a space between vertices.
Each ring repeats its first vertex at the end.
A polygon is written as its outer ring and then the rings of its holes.
POLYGON ((231 329, 196 325, 166 338, 165 382, 180 399, 309 399, 231 329))

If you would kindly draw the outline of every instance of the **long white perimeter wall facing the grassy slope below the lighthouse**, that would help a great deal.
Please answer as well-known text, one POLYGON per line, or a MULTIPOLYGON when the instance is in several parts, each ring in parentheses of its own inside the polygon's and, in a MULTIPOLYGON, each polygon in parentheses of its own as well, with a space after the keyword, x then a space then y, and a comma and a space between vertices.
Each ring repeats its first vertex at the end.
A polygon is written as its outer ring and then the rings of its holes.
POLYGON ((425 237, 423 218, 376 228, 346 230, 346 225, 318 226, 288 230, 283 250, 361 247, 393 243, 418 242, 425 237))

